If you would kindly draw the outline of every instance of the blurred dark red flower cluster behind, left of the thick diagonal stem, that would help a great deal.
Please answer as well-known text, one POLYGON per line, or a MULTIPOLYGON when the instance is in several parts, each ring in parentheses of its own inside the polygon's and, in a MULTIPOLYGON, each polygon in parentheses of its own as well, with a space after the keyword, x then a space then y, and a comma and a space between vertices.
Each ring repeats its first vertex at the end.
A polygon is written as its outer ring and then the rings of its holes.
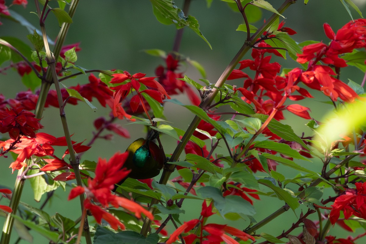
POLYGON ((168 54, 165 63, 166 67, 160 65, 155 70, 158 82, 170 95, 186 92, 191 103, 198 106, 201 103, 201 99, 184 80, 178 80, 184 78, 184 75, 178 72, 179 60, 168 54))

